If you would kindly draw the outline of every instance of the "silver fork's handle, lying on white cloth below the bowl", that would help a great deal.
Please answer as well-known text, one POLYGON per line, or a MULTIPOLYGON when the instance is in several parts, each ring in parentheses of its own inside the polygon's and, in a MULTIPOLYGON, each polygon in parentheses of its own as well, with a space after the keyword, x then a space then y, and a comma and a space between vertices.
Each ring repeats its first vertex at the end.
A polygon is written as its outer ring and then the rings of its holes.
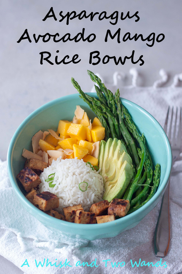
POLYGON ((165 257, 170 244, 169 184, 162 198, 159 218, 153 239, 153 251, 157 257, 165 257))

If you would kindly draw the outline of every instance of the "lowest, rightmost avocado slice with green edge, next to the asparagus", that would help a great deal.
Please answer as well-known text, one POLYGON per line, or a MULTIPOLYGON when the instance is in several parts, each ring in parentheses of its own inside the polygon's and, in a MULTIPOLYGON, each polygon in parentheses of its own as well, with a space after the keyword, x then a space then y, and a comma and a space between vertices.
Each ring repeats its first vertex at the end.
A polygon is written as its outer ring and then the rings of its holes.
POLYGON ((132 177, 133 167, 125 160, 116 184, 109 185, 110 182, 106 183, 103 199, 111 202, 114 198, 122 198, 132 177))

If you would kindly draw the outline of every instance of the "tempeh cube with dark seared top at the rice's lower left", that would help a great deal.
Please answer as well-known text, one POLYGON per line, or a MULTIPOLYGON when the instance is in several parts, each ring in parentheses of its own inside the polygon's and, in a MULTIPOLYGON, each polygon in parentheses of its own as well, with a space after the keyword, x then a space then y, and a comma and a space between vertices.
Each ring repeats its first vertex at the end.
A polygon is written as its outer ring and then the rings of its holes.
POLYGON ((43 191, 34 196, 33 204, 43 211, 48 211, 59 207, 59 198, 49 191, 43 191))

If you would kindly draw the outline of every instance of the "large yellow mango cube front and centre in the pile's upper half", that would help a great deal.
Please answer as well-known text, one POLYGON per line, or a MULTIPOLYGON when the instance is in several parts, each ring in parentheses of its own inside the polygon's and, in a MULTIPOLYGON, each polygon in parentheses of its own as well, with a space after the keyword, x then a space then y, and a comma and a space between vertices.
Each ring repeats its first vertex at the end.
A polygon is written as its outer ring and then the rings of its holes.
POLYGON ((67 134, 71 138, 76 138, 77 140, 85 140, 86 127, 82 124, 71 124, 67 130, 67 134))

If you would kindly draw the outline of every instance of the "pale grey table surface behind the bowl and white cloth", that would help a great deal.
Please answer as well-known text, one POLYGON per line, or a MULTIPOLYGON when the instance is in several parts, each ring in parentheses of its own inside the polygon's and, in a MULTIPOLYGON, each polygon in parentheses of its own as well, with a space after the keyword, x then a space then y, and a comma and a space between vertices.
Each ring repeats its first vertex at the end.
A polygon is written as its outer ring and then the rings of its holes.
MULTIPOLYGON (((157 1, 157 0, 103 0, 103 1, 10 1, 2 0, 0 9, 0 128, 2 130, 0 137, 0 158, 6 160, 6 154, 9 142, 16 128, 20 123, 36 108, 50 100, 58 97, 75 93, 76 90, 71 84, 73 76, 86 92, 90 91, 93 83, 87 76, 86 69, 93 72, 99 72, 105 79, 105 82, 112 82, 112 75, 115 71, 127 74, 123 84, 131 83, 129 75, 130 68, 138 68, 143 75, 141 85, 151 86, 153 82, 159 79, 158 72, 164 68, 169 74, 169 84, 172 83, 175 74, 182 72, 182 3, 181 0, 175 1, 157 1), (42 21, 50 7, 53 7, 57 21, 49 18, 42 21), (59 22, 59 12, 71 12, 75 10, 80 12, 102 12, 111 14, 115 10, 131 14, 139 11, 140 20, 133 19, 118 20, 113 26, 109 20, 99 21, 94 18, 92 22, 89 19, 74 19, 66 25, 65 20, 59 22), (95 33, 96 40, 92 43, 68 41, 66 43, 48 43, 33 42, 33 33, 51 34, 59 33, 60 37, 65 33, 76 35, 85 28, 86 34, 95 33), (165 39, 161 43, 155 42, 153 47, 148 47, 140 39, 136 42, 126 41, 118 44, 115 39, 107 43, 104 42, 105 33, 110 29, 113 33, 121 28, 121 37, 126 33, 142 33, 147 37, 155 32, 165 34, 165 39), (23 40, 17 43, 25 29, 28 29, 32 43, 23 40), (78 64, 69 65, 49 65, 45 63, 40 65, 41 51, 50 51, 52 56, 59 50, 59 56, 72 56, 79 54, 81 61, 78 64), (143 66, 133 65, 130 60, 126 60, 125 65, 115 65, 111 60, 108 64, 93 66, 89 65, 89 53, 98 50, 100 55, 108 54, 116 57, 125 55, 130 56, 135 50, 136 59, 143 54, 145 61, 143 66)), ((0 274, 23 273, 12 263, 7 262, 0 257, 0 274)))

